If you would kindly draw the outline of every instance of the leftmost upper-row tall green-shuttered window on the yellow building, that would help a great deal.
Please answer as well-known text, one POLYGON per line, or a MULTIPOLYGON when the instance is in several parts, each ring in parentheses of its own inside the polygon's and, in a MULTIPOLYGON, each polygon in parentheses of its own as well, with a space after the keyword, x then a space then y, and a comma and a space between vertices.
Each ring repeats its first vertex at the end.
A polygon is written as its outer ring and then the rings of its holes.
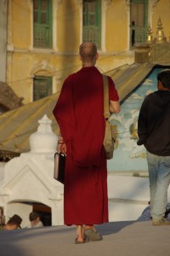
POLYGON ((33 44, 52 48, 52 0, 33 0, 33 44))

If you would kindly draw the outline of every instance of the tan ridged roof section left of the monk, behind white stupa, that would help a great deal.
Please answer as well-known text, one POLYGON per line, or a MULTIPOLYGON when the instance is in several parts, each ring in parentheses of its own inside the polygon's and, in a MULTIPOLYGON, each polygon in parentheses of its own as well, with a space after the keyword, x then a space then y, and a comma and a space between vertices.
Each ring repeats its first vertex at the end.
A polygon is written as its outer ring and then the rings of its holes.
POLYGON ((30 150, 29 137, 37 131, 38 120, 44 114, 52 120, 52 128, 57 132, 58 125, 52 113, 59 93, 31 102, 23 107, 3 113, 0 116, 0 150, 26 152, 30 150))

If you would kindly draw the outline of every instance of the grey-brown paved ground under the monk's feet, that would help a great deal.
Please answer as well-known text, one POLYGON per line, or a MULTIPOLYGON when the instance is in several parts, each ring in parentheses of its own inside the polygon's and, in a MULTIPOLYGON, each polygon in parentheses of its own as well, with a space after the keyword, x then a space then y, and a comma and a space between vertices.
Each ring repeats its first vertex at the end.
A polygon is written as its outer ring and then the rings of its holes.
POLYGON ((103 241, 75 245, 75 228, 54 226, 0 232, 1 256, 167 256, 169 226, 111 222, 97 226, 103 241))

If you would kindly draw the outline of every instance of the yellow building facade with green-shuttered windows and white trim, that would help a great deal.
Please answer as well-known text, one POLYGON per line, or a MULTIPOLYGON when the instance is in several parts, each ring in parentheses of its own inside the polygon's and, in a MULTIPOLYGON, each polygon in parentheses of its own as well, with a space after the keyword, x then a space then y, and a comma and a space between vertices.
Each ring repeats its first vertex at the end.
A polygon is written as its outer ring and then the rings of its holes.
MULTIPOLYGON (((4 2, 4 0, 3 0, 4 2)), ((60 90, 81 67, 82 41, 99 49, 102 73, 131 65, 134 49, 152 40, 161 18, 169 41, 169 0, 8 0, 7 84, 23 103, 60 90)), ((4 81, 3 81, 4 82, 4 81)))

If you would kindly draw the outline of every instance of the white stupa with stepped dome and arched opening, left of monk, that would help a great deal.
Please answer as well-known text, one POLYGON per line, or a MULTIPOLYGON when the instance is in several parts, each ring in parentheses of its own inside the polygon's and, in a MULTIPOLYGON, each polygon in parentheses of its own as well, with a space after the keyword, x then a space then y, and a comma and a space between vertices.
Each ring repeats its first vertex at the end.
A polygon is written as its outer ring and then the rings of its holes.
POLYGON ((6 221, 19 214, 23 218, 22 227, 30 224, 28 216, 35 203, 48 207, 52 225, 63 224, 63 185, 54 179, 58 137, 47 115, 38 123, 37 131, 30 137, 30 152, 8 161, 0 183, 0 206, 4 208, 6 221))

